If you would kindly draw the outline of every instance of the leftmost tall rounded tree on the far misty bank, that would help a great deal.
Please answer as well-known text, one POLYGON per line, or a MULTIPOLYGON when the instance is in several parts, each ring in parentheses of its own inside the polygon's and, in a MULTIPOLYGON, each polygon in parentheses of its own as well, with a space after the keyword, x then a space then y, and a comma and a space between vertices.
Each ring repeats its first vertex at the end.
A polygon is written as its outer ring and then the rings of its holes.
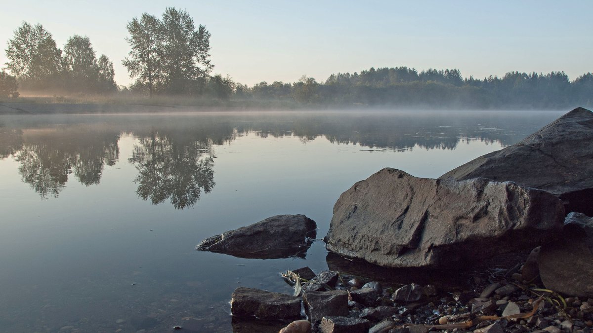
POLYGON ((21 81, 28 81, 36 88, 51 85, 59 74, 61 51, 56 47, 52 34, 43 25, 27 22, 14 31, 8 40, 6 56, 8 70, 21 81))

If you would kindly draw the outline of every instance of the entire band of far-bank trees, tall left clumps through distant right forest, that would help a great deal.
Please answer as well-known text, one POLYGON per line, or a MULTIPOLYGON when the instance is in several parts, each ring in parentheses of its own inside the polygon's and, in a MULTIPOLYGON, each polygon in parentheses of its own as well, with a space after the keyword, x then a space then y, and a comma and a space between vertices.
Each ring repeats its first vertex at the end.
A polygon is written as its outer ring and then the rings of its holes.
MULTIPOLYGON (((252 87, 212 74, 211 34, 186 11, 167 8, 161 18, 142 14, 127 23, 130 52, 123 60, 129 87, 114 81, 113 62, 97 58, 88 37, 74 35, 63 49, 43 25, 24 22, 8 41, 6 68, 0 71, 0 98, 19 91, 39 95, 120 95, 157 99, 235 101, 235 105, 398 108, 570 108, 593 105, 593 75, 570 81, 564 72, 508 72, 502 77, 464 78, 459 69, 371 68, 336 73, 323 82, 263 81, 252 87)), ((216 103, 215 103, 216 104, 216 103)), ((221 104, 222 105, 222 104, 221 104)))

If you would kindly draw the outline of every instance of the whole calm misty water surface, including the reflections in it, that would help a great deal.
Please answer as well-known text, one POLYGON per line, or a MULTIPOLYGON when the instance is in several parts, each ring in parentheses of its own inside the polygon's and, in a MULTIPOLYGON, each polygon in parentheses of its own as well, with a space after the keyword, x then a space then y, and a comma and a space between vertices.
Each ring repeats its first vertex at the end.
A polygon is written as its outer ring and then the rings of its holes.
POLYGON ((298 213, 323 238, 354 182, 438 177, 561 114, 0 116, 0 331, 239 331, 232 291, 292 292, 278 273, 327 269, 324 244, 248 260, 203 238, 298 213))

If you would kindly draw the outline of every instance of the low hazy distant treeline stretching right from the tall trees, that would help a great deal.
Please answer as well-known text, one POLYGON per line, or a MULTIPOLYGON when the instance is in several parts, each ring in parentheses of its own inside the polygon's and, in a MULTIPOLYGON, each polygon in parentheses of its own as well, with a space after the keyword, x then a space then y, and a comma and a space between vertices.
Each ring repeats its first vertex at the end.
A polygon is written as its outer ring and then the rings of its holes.
POLYGON ((565 72, 508 72, 463 78, 458 69, 371 68, 332 74, 324 82, 302 76, 293 84, 237 84, 235 98, 286 100, 341 107, 565 108, 593 105, 593 75, 570 81, 565 72))

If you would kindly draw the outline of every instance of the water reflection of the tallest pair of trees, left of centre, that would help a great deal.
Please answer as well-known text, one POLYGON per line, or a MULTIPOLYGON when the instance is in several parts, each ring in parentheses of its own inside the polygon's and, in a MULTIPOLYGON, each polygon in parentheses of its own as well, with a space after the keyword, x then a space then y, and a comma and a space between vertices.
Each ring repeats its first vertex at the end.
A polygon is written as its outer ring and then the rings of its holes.
POLYGON ((152 204, 171 198, 176 209, 192 207, 202 190, 215 185, 211 141, 161 135, 153 131, 141 137, 128 159, 136 165, 136 194, 152 204))

